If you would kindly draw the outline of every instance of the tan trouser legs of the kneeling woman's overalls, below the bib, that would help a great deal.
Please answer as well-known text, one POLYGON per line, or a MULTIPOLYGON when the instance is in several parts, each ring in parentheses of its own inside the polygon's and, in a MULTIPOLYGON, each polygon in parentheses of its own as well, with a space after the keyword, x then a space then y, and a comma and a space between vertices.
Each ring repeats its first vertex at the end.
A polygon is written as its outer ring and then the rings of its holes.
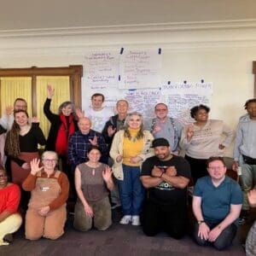
POLYGON ((25 236, 29 240, 38 240, 44 236, 55 240, 64 234, 64 225, 67 219, 66 207, 62 206, 50 211, 43 217, 32 208, 26 211, 25 236))

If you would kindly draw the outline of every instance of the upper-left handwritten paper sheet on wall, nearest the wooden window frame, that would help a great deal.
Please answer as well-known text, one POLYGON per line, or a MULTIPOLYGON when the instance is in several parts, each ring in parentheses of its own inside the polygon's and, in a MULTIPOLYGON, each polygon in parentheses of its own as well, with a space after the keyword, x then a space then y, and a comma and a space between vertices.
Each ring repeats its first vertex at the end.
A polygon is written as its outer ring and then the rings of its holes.
POLYGON ((119 54, 102 51, 84 56, 84 79, 91 90, 118 87, 119 54))

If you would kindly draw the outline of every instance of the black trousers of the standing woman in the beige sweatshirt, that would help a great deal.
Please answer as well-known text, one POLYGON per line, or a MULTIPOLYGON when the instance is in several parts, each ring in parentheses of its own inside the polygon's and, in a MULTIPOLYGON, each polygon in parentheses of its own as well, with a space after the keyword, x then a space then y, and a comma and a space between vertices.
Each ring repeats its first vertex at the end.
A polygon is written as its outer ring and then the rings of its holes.
POLYGON ((193 177, 194 185, 200 177, 204 177, 204 176, 208 175, 207 159, 195 159, 186 154, 185 160, 189 161, 189 165, 191 168, 191 175, 193 177))

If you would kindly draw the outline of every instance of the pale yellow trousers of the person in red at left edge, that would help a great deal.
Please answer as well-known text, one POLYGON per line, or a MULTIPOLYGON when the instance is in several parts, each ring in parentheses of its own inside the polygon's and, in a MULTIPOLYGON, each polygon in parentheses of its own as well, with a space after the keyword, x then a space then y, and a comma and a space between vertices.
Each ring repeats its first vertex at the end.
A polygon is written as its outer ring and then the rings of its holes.
POLYGON ((0 222, 0 246, 9 244, 3 241, 3 237, 19 230, 21 223, 22 218, 19 213, 14 213, 0 222))

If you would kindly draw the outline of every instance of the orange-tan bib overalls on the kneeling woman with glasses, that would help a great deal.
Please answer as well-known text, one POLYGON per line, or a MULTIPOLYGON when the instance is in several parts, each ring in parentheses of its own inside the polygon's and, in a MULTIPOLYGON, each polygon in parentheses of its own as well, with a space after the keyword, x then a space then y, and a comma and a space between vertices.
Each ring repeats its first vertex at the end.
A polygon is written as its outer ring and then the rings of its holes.
POLYGON ((49 206, 61 193, 61 186, 57 181, 61 172, 56 171, 54 178, 41 177, 37 173, 36 187, 32 190, 31 200, 26 211, 26 239, 37 240, 41 236, 57 239, 64 233, 64 224, 67 218, 66 204, 47 213, 38 214, 41 207, 49 206))

